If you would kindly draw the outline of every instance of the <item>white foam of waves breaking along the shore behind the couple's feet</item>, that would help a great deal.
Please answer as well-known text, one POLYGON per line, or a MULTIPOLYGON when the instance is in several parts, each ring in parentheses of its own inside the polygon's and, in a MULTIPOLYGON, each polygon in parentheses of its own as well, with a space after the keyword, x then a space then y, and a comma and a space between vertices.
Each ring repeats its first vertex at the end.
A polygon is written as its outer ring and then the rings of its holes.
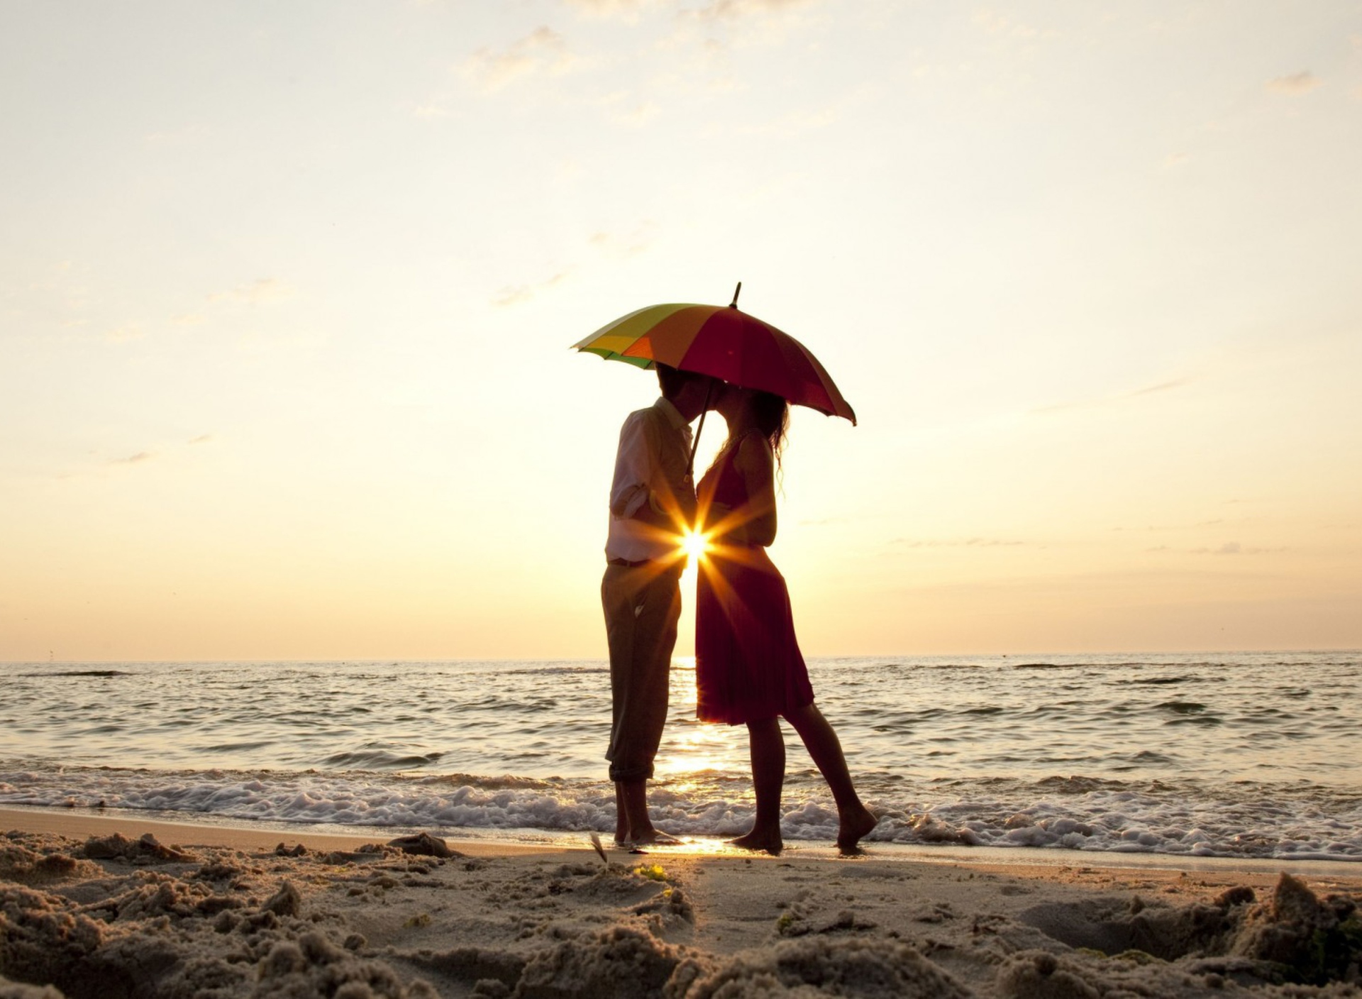
MULTIPOLYGON (((752 797, 738 785, 716 775, 678 786, 659 782, 651 799, 654 822, 676 835, 738 835, 750 829, 753 816, 752 797)), ((1359 796, 1299 784, 1231 790, 1216 793, 1194 782, 1139 789, 1114 781, 1005 788, 997 781, 960 781, 952 796, 928 799, 870 781, 865 797, 880 825, 868 842, 1362 861, 1359 796), (1096 786, 1083 789, 1087 784, 1096 786)), ((365 773, 39 771, 0 763, 0 804, 527 835, 614 829, 612 785, 583 780, 484 784, 469 777, 365 773)), ((838 818, 825 788, 795 780, 782 825, 793 841, 834 840, 838 818)))

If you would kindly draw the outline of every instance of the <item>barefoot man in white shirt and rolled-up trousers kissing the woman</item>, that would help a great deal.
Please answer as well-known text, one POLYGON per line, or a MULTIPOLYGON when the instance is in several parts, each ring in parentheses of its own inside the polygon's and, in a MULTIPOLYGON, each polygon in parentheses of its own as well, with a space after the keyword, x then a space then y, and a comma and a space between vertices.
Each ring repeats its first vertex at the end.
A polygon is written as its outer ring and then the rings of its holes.
POLYGON ((712 379, 656 365, 662 398, 629 413, 610 487, 605 608, 610 646, 617 844, 674 844, 652 827, 647 782, 667 717, 671 649, 681 616, 680 536, 695 522, 695 484, 686 473, 691 421, 704 410, 712 379))

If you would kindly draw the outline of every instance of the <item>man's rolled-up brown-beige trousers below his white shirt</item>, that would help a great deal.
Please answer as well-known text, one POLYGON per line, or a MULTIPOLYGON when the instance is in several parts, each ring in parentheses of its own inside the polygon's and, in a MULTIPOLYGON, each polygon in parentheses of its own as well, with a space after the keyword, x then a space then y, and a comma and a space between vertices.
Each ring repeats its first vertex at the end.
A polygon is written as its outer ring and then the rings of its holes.
POLYGON ((610 646, 612 781, 652 777, 667 721, 671 650, 681 617, 684 564, 606 566, 601 581, 605 632, 610 646))

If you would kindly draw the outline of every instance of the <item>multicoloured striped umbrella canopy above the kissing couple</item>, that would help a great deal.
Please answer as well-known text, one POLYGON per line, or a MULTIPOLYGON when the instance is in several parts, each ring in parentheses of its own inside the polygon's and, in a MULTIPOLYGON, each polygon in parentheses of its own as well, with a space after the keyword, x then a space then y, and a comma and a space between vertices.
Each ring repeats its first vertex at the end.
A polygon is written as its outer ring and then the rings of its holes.
MULTIPOLYGON (((741 285, 740 285, 741 288, 741 285)), ((855 412, 806 346, 733 305, 650 305, 602 326, 577 350, 640 368, 655 363, 759 388, 855 424, 855 412)))

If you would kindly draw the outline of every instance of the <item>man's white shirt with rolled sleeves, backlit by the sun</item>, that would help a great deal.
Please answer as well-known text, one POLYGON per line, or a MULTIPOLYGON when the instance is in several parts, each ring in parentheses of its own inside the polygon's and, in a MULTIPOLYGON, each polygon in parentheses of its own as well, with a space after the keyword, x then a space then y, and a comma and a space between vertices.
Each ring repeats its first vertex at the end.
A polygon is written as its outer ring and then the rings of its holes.
POLYGON ((667 399, 629 413, 620 428, 610 484, 607 560, 676 555, 680 530, 695 521, 695 485, 685 474, 689 461, 691 424, 667 399), (661 526, 667 521, 661 515, 663 510, 674 510, 681 523, 661 526))

